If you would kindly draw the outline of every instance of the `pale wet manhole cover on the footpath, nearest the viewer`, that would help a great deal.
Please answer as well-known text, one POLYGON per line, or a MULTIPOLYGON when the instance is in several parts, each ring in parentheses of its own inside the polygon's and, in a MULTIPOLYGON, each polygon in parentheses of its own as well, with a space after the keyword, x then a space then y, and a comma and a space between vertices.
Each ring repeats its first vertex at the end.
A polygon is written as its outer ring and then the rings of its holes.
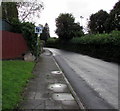
POLYGON ((69 93, 54 93, 52 95, 54 100, 61 100, 61 101, 72 101, 74 100, 73 96, 69 93))

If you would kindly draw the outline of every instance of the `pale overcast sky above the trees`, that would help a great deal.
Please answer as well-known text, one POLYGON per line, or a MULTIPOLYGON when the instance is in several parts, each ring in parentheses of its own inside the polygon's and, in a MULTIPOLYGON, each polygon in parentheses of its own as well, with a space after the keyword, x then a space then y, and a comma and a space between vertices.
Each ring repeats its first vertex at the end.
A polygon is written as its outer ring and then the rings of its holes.
POLYGON ((81 25, 84 27, 87 24, 87 18, 92 13, 96 13, 100 9, 108 13, 113 8, 118 0, 42 0, 44 3, 44 10, 41 12, 40 19, 36 20, 38 24, 44 25, 46 22, 50 28, 51 37, 57 36, 55 34, 55 19, 60 13, 72 13, 75 17, 75 22, 80 22, 80 16, 83 16, 81 25))

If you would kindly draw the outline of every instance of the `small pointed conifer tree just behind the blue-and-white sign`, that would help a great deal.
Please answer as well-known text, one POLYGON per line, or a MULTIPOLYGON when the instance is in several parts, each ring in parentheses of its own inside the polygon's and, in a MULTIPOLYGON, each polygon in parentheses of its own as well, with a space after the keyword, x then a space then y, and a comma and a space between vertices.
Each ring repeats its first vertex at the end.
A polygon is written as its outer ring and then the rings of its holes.
POLYGON ((50 38, 50 33, 49 33, 49 26, 46 23, 45 26, 43 27, 43 32, 40 35, 40 39, 44 40, 45 42, 47 42, 47 39, 50 38))

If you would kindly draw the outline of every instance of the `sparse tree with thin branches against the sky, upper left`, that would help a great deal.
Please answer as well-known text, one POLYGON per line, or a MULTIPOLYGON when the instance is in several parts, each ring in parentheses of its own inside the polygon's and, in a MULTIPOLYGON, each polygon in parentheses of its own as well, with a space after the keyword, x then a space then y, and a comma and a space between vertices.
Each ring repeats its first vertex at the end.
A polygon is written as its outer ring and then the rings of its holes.
POLYGON ((30 2, 17 2, 19 10, 19 19, 23 22, 32 21, 32 18, 40 17, 41 9, 43 9, 43 2, 38 0, 30 0, 30 2))

